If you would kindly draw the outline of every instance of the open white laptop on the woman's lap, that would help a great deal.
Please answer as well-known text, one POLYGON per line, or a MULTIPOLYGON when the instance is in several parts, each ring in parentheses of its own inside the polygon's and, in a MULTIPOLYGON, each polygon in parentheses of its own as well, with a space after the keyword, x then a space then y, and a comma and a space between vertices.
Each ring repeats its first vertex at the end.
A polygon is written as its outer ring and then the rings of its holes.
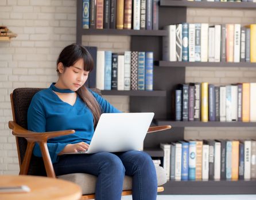
POLYGON ((93 154, 143 150, 143 141, 154 113, 103 113, 87 151, 64 154, 93 154))

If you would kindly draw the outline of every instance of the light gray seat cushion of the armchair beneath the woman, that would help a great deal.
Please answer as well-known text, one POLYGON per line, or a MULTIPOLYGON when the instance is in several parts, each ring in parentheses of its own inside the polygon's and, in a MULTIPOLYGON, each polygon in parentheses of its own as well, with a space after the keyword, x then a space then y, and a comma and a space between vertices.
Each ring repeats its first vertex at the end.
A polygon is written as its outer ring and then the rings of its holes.
MULTIPOLYGON (((166 183, 165 170, 160 166, 156 166, 156 172, 157 172, 157 185, 158 186, 164 185, 164 183, 166 183)), ((95 185, 96 185, 97 177, 95 177, 94 175, 75 173, 75 174, 59 175, 57 178, 76 183, 82 188, 83 194, 95 193, 95 185)), ((131 186, 132 186, 132 178, 126 175, 125 180, 123 182, 123 190, 131 190, 131 186)))

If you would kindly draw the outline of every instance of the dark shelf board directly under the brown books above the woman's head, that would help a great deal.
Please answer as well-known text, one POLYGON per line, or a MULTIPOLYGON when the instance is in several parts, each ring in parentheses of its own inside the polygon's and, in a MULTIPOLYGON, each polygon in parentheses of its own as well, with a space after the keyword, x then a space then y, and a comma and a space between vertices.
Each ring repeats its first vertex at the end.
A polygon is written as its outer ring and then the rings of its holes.
POLYGON ((165 36, 166 30, 119 30, 119 29, 82 29, 82 35, 142 35, 165 36))

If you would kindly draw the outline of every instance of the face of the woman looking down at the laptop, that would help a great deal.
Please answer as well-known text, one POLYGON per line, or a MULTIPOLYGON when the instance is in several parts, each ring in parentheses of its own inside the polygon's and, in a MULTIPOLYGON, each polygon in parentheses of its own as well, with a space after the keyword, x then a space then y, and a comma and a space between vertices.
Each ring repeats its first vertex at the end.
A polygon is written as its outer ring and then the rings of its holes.
POLYGON ((84 85, 88 75, 89 71, 84 71, 84 61, 81 58, 74 65, 65 67, 65 70, 60 71, 60 81, 64 88, 76 91, 84 85))

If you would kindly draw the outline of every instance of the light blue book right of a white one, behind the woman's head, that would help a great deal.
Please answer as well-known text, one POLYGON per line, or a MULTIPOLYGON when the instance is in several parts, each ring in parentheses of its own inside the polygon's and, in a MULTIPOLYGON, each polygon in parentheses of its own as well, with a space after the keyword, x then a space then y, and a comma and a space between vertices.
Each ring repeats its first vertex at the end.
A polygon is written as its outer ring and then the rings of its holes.
POLYGON ((105 51, 104 90, 111 90, 112 52, 105 51))

